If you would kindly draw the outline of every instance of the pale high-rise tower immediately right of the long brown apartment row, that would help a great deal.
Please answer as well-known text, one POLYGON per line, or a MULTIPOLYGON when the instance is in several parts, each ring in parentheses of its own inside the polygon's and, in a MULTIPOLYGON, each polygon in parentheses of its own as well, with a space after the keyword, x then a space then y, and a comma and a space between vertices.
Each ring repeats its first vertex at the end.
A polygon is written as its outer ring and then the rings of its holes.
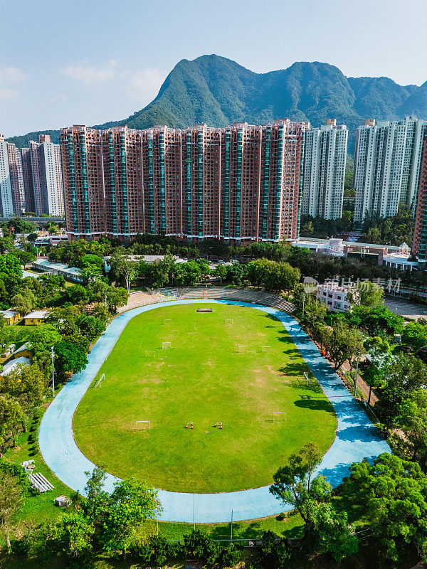
POLYGON ((342 216, 347 127, 327 119, 320 128, 305 133, 302 213, 337 219, 342 216))

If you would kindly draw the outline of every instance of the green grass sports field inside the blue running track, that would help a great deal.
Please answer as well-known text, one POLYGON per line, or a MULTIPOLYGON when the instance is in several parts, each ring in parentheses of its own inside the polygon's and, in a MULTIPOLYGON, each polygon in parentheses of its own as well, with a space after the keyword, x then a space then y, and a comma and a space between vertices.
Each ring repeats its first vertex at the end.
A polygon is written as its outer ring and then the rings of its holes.
POLYGON ((200 307, 213 312, 165 306, 127 324, 75 412, 83 453, 121 478, 220 492, 270 484, 305 442, 325 452, 336 428, 332 405, 315 382, 307 385, 307 366, 280 321, 246 307, 200 307), (273 412, 286 413, 285 422, 273 422, 273 412), (139 420, 149 430, 137 430, 139 420))

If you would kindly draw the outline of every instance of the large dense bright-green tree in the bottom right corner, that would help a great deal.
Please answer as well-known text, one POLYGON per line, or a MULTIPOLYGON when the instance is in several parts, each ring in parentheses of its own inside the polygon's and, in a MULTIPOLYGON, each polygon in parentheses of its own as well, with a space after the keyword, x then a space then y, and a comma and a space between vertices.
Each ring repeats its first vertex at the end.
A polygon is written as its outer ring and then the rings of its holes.
POLYGON ((342 495, 353 504, 363 496, 372 556, 396 562, 412 547, 427 559, 427 477, 419 464, 387 453, 354 463, 342 495))

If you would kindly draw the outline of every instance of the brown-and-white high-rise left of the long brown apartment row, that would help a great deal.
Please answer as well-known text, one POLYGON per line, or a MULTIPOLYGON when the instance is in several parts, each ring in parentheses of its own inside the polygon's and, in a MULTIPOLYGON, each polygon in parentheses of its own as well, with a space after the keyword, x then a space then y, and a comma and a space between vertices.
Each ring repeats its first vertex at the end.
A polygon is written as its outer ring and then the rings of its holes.
POLYGON ((29 141, 34 211, 41 215, 63 216, 63 182, 60 170, 60 147, 48 134, 38 142, 29 141))

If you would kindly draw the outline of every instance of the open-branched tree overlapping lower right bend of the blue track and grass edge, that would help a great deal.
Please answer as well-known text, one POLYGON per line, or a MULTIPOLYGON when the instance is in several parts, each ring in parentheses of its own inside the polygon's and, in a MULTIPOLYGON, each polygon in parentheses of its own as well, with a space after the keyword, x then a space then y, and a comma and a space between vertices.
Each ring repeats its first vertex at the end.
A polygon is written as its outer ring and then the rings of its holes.
POLYGON ((312 479, 313 472, 322 461, 322 454, 313 442, 307 442, 298 454, 291 454, 288 464, 273 476, 270 492, 283 504, 290 504, 310 524, 310 500, 325 501, 330 497, 330 485, 325 478, 312 479))

